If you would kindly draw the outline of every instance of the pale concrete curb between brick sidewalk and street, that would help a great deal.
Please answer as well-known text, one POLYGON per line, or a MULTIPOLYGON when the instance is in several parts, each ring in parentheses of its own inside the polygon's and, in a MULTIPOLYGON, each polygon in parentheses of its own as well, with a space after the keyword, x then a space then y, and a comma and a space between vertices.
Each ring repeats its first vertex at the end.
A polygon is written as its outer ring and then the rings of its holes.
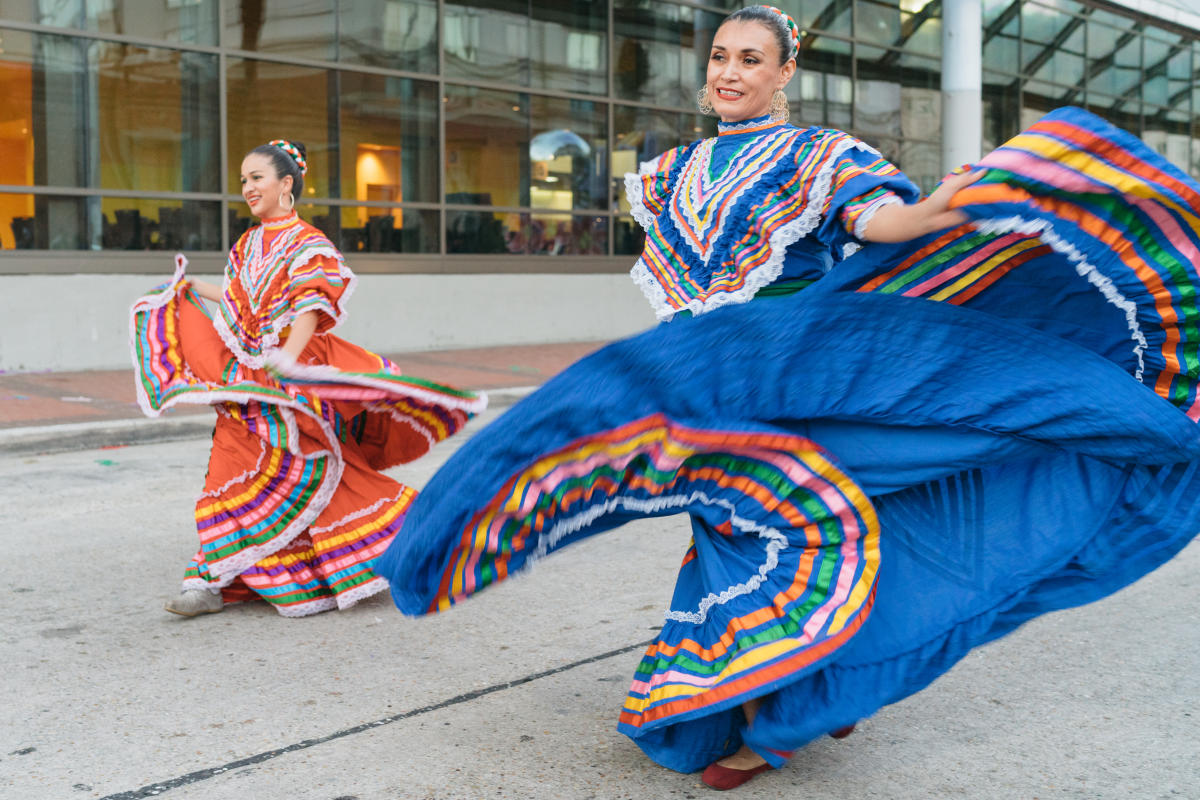
MULTIPOLYGON (((509 408, 536 389, 538 386, 512 386, 490 391, 487 392, 487 408, 488 410, 509 408)), ((212 426, 211 414, 187 414, 0 428, 0 457, 40 456, 76 450, 204 439, 212 435, 212 426)))

